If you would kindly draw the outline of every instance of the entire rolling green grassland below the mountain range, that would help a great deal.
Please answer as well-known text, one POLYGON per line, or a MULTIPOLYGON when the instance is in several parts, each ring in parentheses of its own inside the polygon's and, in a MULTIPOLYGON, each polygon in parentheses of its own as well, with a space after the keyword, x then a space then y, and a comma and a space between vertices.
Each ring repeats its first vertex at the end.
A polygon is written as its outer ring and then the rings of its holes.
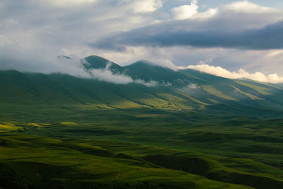
POLYGON ((283 187, 279 118, 88 106, 1 116, 4 187, 283 187))

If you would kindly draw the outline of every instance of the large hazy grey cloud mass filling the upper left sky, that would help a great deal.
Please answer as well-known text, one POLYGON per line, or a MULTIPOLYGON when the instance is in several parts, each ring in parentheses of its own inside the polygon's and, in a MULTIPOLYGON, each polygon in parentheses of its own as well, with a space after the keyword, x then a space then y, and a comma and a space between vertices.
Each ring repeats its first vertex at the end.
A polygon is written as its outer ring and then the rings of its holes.
MULTIPOLYGON (((59 62, 57 56, 81 59, 97 55, 96 50, 88 47, 89 40, 153 23, 151 15, 134 13, 134 8, 141 5, 139 2, 1 0, 0 69, 80 72, 78 65, 70 67, 69 63, 59 62), (68 6, 60 6, 65 4, 68 6)), ((161 6, 158 1, 153 2, 151 6, 161 6)))

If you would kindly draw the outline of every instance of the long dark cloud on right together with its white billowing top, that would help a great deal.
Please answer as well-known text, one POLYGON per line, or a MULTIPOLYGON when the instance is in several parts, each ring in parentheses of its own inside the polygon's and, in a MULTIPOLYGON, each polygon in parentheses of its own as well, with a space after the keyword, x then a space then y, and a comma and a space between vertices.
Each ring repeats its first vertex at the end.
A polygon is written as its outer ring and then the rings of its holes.
POLYGON ((248 50, 283 48, 283 11, 236 1, 197 11, 197 1, 171 9, 176 20, 117 32, 90 43, 93 48, 125 51, 129 46, 223 47, 248 50))

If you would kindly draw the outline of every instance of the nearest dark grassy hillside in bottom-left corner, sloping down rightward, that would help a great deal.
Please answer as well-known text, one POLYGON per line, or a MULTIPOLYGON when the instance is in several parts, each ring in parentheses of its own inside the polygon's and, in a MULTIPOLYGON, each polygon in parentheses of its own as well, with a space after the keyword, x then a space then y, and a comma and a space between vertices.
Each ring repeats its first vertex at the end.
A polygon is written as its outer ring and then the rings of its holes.
POLYGON ((248 188, 74 140, 7 132, 0 139, 0 183, 7 188, 248 188))

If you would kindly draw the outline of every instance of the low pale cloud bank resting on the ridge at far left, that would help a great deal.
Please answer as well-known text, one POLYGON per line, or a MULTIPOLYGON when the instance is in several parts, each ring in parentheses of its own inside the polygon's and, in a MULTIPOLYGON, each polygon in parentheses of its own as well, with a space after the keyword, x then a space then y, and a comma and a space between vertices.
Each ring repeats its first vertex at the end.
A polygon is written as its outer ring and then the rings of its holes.
POLYGON ((27 33, 19 33, 17 38, 2 35, 0 38, 0 69, 16 69, 45 74, 62 72, 86 76, 80 67, 79 58, 75 55, 71 61, 58 59, 57 56, 54 56, 58 55, 58 49, 49 45, 33 46, 36 43, 37 41, 27 33), (18 42, 18 39, 21 39, 21 42, 18 42))

